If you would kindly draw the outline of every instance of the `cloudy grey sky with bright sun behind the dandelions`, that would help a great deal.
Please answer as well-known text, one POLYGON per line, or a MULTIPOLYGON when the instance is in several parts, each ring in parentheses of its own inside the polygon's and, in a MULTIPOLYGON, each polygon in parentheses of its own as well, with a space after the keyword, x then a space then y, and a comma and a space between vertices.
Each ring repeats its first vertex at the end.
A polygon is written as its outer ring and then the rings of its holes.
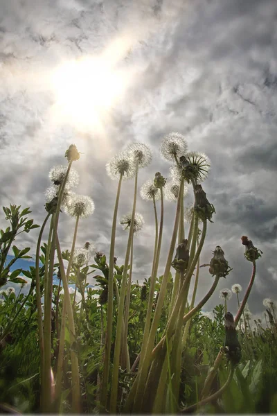
MULTIPOLYGON (((258 316, 265 297, 277 300, 276 21, 276 0, 1 1, 1 205, 30 207, 41 225, 48 171, 66 164, 73 143, 82 153, 73 165, 80 173, 76 191, 96 205, 80 221, 77 246, 91 241, 108 256, 116 182, 105 165, 140 141, 153 159, 139 172, 139 187, 157 171, 169 177, 159 146, 169 132, 180 132, 189 150, 211 159, 203 187, 216 214, 201 262, 220 245, 233 268, 204 311, 220 303, 220 289, 239 283, 242 295, 246 290, 251 263, 240 237, 247 235, 263 252, 248 302, 258 316)), ((118 220, 132 210, 133 187, 123 183, 118 220)), ((192 201, 189 189, 186 203, 192 201)), ((159 275, 175 208, 165 203, 159 275)), ((145 225, 135 239, 134 280, 142 282, 150 276, 154 220, 151 203, 140 197, 137 211, 145 225)), ((71 247, 73 227, 61 214, 62 250, 71 247)), ((34 254, 38 233, 21 234, 19 248, 28 245, 34 254)), ((126 245, 118 225, 118 264, 126 245)), ((197 300, 212 282, 202 268, 197 300)), ((230 309, 236 312, 235 296, 230 309)))

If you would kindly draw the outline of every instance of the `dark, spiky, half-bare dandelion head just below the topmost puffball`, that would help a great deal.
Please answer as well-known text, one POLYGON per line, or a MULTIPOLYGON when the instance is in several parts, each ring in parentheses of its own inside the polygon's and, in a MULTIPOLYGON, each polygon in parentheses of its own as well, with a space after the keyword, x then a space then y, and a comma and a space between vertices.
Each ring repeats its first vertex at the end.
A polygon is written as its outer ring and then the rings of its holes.
POLYGON ((211 170, 211 160, 205 153, 189 152, 180 158, 180 164, 183 168, 182 174, 186 180, 190 179, 190 173, 192 177, 199 181, 203 181, 208 176, 211 170), (187 177, 188 176, 188 177, 187 177))

